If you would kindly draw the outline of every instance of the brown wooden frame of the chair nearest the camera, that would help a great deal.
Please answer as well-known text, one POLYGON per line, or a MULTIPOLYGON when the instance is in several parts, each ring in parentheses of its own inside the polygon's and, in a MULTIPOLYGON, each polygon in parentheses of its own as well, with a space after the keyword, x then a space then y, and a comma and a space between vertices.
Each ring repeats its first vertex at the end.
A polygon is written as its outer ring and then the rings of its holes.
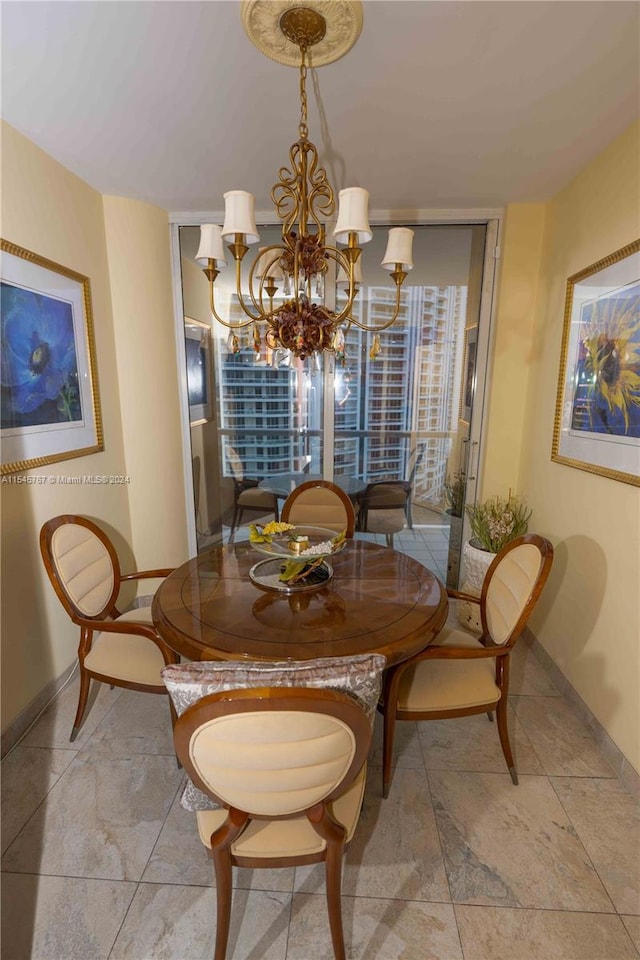
POLYGON ((366 762, 371 744, 371 724, 362 708, 347 694, 326 689, 265 687, 230 690, 203 697, 185 710, 176 721, 174 742, 178 760, 181 761, 196 787, 228 811, 225 822, 211 835, 208 849, 216 877, 217 923, 214 960, 225 960, 227 952, 231 919, 232 866, 289 867, 322 861, 325 862, 327 907, 334 955, 336 960, 345 960, 341 875, 346 831, 331 815, 327 804, 345 792, 366 762), (246 712, 284 710, 300 710, 337 717, 349 726, 355 738, 355 754, 340 783, 322 801, 303 811, 316 833, 325 841, 325 849, 315 854, 291 857, 237 856, 231 850, 232 844, 240 837, 251 820, 285 820, 292 814, 285 813, 279 817, 258 816, 246 810, 230 807, 211 791, 194 767, 189 751, 191 737, 203 723, 216 717, 246 712))

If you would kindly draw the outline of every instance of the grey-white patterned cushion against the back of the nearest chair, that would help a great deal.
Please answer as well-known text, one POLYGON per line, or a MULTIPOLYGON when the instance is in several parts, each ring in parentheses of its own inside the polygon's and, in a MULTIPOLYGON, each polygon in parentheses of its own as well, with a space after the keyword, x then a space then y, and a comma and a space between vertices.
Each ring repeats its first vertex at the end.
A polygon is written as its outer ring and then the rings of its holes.
MULTIPOLYGON (((385 657, 378 653, 320 660, 200 661, 162 670, 162 679, 178 716, 211 693, 252 687, 322 687, 353 697, 373 723, 380 697, 385 657)), ((217 804, 187 779, 180 803, 186 810, 213 810, 217 804)))

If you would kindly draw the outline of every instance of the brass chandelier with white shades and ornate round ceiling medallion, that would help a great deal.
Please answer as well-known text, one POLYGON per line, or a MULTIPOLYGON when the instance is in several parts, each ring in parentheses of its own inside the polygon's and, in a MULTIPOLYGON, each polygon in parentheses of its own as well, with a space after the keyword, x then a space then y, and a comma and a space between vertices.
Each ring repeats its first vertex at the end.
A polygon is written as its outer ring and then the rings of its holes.
POLYGON ((283 348, 301 359, 322 351, 333 352, 343 359, 345 334, 354 324, 375 334, 370 351, 370 356, 375 358, 380 350, 379 332, 390 327, 400 312, 400 290, 407 272, 413 267, 413 230, 393 227, 389 231, 381 265, 390 272, 396 287, 391 316, 378 326, 363 322, 353 315, 353 306, 362 281, 362 245, 373 236, 369 226, 369 194, 362 187, 340 190, 334 243, 329 243, 326 222, 335 213, 335 198, 326 172, 319 164, 318 151, 308 134, 308 53, 319 45, 322 56, 316 58, 314 54, 317 65, 343 56, 360 32, 360 7, 361 4, 353 0, 341 0, 339 4, 308 0, 305 6, 274 0, 246 0, 243 5, 245 29, 263 53, 281 63, 293 65, 291 50, 297 47, 300 121, 298 140, 289 149, 289 167, 280 168, 278 182, 271 190, 276 213, 282 220, 282 242, 259 248, 249 267, 245 290, 242 288, 242 263, 250 246, 260 239, 255 224, 253 195, 244 190, 225 193, 223 225, 203 224, 200 228, 196 260, 209 281, 211 313, 231 331, 229 346, 232 352, 240 349, 236 331, 253 325, 252 340, 256 353, 260 352, 262 344, 266 344, 271 350, 283 348), (353 29, 351 36, 347 35, 347 30, 341 37, 344 24, 339 23, 337 29, 334 26, 330 32, 329 48, 322 49, 327 20, 321 11, 331 12, 332 8, 338 8, 338 21, 345 13, 355 15, 355 37, 353 29), (273 37, 269 39, 265 17, 274 16, 277 19, 273 37), (283 45, 286 48, 287 41, 288 53, 283 56, 283 45), (345 43, 348 44, 346 48, 345 43), (216 278, 226 266, 224 241, 235 261, 235 295, 243 314, 239 320, 223 318, 216 306, 216 278), (335 278, 336 289, 342 291, 345 298, 345 302, 335 309, 330 309, 324 302, 325 280, 329 276, 335 278))

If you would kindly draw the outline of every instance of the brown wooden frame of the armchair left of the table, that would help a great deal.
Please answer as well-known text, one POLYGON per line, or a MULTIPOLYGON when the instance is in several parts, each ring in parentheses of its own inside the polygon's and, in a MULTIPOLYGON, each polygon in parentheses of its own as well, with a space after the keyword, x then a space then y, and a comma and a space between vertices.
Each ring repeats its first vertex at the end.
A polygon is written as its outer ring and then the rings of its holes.
MULTIPOLYGON (((84 660, 91 650, 94 633, 122 633, 146 637, 147 640, 150 640, 156 645, 156 647, 158 647, 165 664, 168 665, 171 663, 179 663, 179 656, 175 653, 175 651, 167 646, 167 644, 160 638, 151 624, 132 620, 126 620, 122 623, 119 623, 118 618, 122 616, 122 612, 116 606, 116 600, 118 598, 118 594, 120 593, 122 583, 129 580, 157 579, 159 577, 167 577, 173 571, 171 569, 157 569, 141 570, 134 573, 123 574, 120 570, 118 554, 116 553, 113 544, 104 531, 101 530, 97 524, 93 523, 93 521, 76 514, 63 514, 59 517, 54 517, 52 520, 47 520, 40 531, 40 552, 42 554, 45 570, 47 571, 47 575, 58 599, 69 614, 71 620, 80 627, 80 644, 78 646, 80 695, 78 698, 78 709, 76 711, 73 728, 71 730, 71 736, 69 738, 70 741, 73 742, 80 730, 87 700, 89 698, 89 687, 92 679, 97 680, 100 683, 108 683, 110 686, 125 687, 129 690, 141 690, 144 693, 160 693, 166 695, 167 690, 161 680, 157 686, 155 684, 151 685, 135 683, 129 680, 122 680, 119 677, 111 677, 106 674, 100 674, 89 670, 87 667, 85 667, 84 660), (73 523, 81 527, 86 527, 87 530, 90 530, 91 533, 98 537, 107 550, 113 567, 113 589, 111 594, 104 607, 97 614, 91 617, 86 616, 82 611, 80 611, 67 593, 53 557, 53 551, 51 547, 53 534, 59 527, 67 523, 73 523)), ((169 701, 169 705, 172 721, 175 721, 175 711, 171 700, 169 701)))

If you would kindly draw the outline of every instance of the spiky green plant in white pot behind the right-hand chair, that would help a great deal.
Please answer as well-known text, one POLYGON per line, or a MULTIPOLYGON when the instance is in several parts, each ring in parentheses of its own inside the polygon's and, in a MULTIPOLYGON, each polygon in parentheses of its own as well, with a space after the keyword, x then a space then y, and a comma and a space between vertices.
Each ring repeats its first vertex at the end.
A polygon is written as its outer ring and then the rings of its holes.
MULTIPOLYGON (((493 558, 507 543, 527 532, 531 512, 511 492, 507 497, 489 497, 466 508, 472 536, 463 549, 462 593, 480 596, 493 558)), ((475 603, 460 602, 458 620, 471 630, 482 630, 480 608, 475 603)))

